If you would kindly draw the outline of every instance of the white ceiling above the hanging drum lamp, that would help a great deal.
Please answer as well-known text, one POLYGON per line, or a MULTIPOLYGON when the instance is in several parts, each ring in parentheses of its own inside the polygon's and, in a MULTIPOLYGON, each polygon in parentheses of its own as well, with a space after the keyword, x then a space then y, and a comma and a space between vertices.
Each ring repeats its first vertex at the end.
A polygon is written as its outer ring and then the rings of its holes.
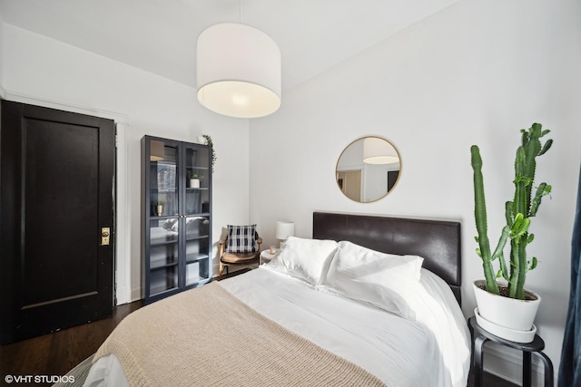
POLYGON ((0 0, 0 18, 194 88, 198 34, 241 21, 279 44, 286 91, 456 1, 0 0))

